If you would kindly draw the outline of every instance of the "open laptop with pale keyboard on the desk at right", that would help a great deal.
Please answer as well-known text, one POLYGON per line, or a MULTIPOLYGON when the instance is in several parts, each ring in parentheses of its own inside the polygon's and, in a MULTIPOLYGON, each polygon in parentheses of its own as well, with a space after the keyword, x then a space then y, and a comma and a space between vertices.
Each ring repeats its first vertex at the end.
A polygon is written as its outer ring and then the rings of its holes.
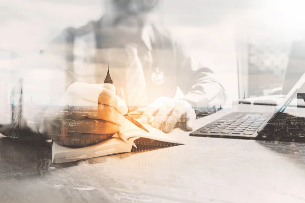
POLYGON ((297 92, 305 93, 304 87, 305 74, 295 83, 274 112, 232 112, 195 130, 190 136, 305 142, 303 128, 305 116, 293 117, 284 113, 291 101, 296 98, 297 92), (291 128, 289 132, 283 127, 283 123, 286 126, 285 119, 294 122, 290 122, 290 125, 302 123, 301 127, 291 128))

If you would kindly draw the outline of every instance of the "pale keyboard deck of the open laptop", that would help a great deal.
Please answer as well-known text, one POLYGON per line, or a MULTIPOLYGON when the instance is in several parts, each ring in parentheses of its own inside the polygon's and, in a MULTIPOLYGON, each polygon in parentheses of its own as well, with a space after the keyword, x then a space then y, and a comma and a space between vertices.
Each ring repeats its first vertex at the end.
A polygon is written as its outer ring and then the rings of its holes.
POLYGON ((190 136, 255 138, 270 113, 233 112, 192 132, 190 136))

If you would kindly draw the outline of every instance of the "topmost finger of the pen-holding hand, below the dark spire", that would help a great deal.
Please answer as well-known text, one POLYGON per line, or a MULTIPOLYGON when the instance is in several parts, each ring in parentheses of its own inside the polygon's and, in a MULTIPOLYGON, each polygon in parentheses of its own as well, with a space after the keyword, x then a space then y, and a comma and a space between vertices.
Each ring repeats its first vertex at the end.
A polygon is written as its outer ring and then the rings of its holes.
POLYGON ((104 88, 99 95, 98 103, 102 105, 107 105, 113 107, 116 111, 121 114, 128 113, 128 107, 125 102, 119 98, 113 90, 104 88))

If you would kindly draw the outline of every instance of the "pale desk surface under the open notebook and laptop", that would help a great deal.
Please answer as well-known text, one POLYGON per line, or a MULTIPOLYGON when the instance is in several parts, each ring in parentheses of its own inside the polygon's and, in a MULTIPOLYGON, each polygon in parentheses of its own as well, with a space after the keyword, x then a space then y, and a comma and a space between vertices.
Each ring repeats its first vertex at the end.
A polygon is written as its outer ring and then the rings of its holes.
POLYGON ((114 198, 119 192, 150 202, 305 201, 305 143, 171 134, 186 145, 64 164, 51 164, 50 149, 0 138, 0 201, 126 202, 114 198))

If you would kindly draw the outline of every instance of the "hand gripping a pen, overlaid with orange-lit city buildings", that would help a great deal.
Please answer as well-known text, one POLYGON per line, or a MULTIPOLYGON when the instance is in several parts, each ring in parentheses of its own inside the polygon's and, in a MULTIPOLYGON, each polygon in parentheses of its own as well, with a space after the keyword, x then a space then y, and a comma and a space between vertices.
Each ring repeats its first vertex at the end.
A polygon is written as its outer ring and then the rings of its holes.
POLYGON ((41 119, 43 125, 40 125, 39 131, 46 139, 56 140, 58 144, 59 141, 67 141, 70 145, 75 140, 80 143, 107 140, 122 130, 127 119, 146 130, 127 113, 127 105, 116 95, 112 84, 73 83, 44 112, 41 119), (62 109, 58 110, 58 107, 62 109), (95 107, 95 110, 85 110, 90 107, 95 107))

